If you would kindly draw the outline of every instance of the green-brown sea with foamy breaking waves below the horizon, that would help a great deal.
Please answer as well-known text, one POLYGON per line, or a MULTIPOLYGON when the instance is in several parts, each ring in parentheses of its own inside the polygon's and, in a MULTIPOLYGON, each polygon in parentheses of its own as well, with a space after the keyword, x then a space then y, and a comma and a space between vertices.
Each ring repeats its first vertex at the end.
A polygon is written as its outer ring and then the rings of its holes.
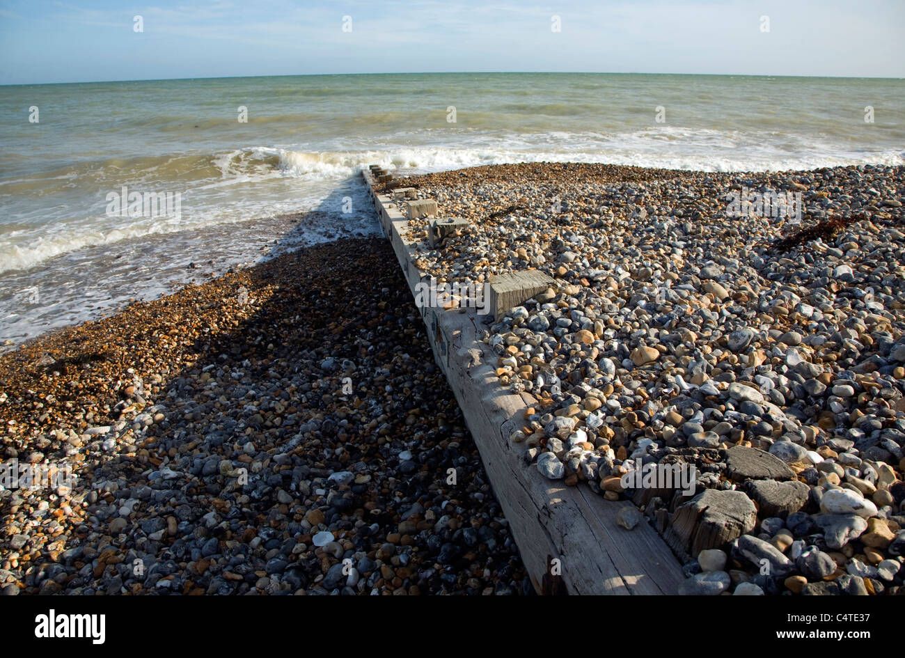
POLYGON ((359 171, 905 164, 905 81, 596 73, 0 86, 0 345, 342 237, 359 171))

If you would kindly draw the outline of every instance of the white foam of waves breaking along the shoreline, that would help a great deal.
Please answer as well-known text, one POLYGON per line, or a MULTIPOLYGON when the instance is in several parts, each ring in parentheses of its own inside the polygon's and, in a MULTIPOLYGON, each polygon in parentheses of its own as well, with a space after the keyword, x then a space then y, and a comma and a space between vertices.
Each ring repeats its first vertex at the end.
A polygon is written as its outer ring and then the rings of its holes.
MULTIPOLYGON (((186 189, 179 222, 110 219, 102 214, 102 206, 74 218, 71 207, 43 209, 40 224, 23 228, 19 223, 15 230, 0 235, 0 272, 33 267, 87 246, 310 210, 372 163, 416 172, 542 161, 721 172, 905 164, 905 152, 900 150, 865 153, 813 136, 675 126, 625 133, 553 131, 451 137, 436 131, 432 135, 436 141, 455 142, 431 146, 386 144, 381 148, 323 152, 251 146, 219 154, 213 159, 220 169, 220 179, 199 181, 186 189), (287 186, 289 181, 284 179, 300 182, 287 186)), ((110 186, 119 188, 112 183, 110 186)), ((26 224, 36 218, 33 209, 20 215, 26 224)))

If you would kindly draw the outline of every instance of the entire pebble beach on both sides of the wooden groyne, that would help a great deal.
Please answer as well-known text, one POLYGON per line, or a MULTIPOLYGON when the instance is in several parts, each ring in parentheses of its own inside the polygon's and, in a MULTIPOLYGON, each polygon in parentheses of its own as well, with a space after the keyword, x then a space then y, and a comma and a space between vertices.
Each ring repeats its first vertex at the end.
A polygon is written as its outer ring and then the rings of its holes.
MULTIPOLYGON (((687 595, 905 593, 905 168, 532 163, 409 176, 469 224, 416 265, 555 285, 483 325, 526 478, 631 500, 687 595), (800 195, 798 216, 728 198, 800 195), (626 487, 693 467, 691 491, 626 487), (703 531, 701 529, 705 529, 703 531)), ((401 202, 405 210, 405 201, 401 202)), ((14 594, 534 591, 382 239, 342 239, 0 355, 14 594)), ((594 551, 595 547, 587 547, 594 551)))

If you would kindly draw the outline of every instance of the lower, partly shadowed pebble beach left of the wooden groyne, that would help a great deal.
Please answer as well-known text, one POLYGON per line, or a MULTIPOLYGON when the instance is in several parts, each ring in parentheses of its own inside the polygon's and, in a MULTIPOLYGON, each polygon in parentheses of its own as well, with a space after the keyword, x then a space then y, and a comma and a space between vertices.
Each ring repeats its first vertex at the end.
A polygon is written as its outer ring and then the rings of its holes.
POLYGON ((0 356, 0 590, 533 592, 385 241, 343 239, 0 356))

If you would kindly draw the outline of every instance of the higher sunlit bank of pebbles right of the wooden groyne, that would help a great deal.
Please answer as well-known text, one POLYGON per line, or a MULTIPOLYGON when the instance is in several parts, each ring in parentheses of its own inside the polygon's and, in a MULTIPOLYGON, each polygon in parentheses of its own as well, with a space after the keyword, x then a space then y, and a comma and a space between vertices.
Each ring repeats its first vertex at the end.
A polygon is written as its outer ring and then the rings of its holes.
POLYGON ((541 163, 397 185, 469 222, 439 248, 409 223, 423 275, 556 281, 483 339, 500 386, 538 400, 510 436, 526 477, 635 501, 620 522, 661 532, 681 594, 905 593, 902 167, 541 163), (739 213, 733 194, 800 212, 739 213), (692 491, 627 488, 647 464, 693 467, 692 491))

